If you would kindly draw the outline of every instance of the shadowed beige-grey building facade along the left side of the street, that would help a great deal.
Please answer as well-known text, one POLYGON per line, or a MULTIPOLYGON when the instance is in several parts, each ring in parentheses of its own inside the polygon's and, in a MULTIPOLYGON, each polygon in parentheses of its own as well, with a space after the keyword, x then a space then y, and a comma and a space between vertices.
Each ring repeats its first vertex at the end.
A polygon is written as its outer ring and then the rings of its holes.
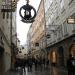
MULTIPOLYGON (((12 1, 13 3, 13 1, 12 1)), ((16 47, 16 9, 11 10, 11 1, 0 1, 0 72, 11 68, 12 47, 16 47), (15 38, 15 39, 14 39, 15 38), (13 40, 14 39, 14 40, 13 40), (11 47, 12 46, 12 47, 11 47), (3 50, 3 51, 1 51, 3 50)), ((16 5, 16 1, 15 1, 16 5)), ((12 8, 13 9, 13 8, 12 8)))

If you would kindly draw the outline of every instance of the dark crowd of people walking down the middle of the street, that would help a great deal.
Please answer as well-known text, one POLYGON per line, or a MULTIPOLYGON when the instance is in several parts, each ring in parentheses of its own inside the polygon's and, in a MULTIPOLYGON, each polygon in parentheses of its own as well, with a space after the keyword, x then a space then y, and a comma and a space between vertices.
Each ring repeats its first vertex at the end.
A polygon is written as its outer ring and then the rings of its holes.
POLYGON ((49 60, 46 60, 45 58, 32 58, 29 57, 27 59, 20 59, 20 58, 16 58, 16 62, 14 64, 15 69, 17 69, 18 67, 21 67, 24 69, 25 71, 25 67, 28 68, 28 71, 32 71, 32 66, 35 66, 35 70, 40 69, 40 71, 42 71, 42 68, 45 68, 45 66, 48 67, 49 65, 49 60))

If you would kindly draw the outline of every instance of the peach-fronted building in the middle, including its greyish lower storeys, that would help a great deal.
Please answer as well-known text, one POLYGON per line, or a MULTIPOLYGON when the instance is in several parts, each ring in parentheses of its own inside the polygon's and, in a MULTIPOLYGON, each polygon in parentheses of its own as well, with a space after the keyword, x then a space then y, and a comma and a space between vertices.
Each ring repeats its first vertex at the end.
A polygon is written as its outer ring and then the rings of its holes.
MULTIPOLYGON (((32 55, 36 56, 41 56, 41 50, 45 46, 44 40, 44 6, 43 6, 43 0, 41 0, 38 11, 37 11, 37 16, 35 18, 35 21, 32 23, 32 38, 31 38, 31 43, 32 43, 32 55)), ((43 55, 43 54, 42 54, 43 55)))

